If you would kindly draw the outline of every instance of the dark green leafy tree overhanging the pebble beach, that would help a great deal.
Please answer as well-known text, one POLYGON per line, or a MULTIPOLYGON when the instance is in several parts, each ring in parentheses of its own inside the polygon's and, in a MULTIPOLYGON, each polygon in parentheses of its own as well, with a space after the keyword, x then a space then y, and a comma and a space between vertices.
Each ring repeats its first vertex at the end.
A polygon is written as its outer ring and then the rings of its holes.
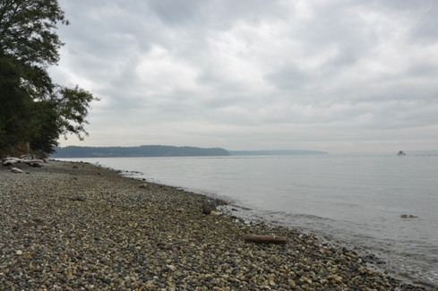
POLYGON ((88 109, 98 98, 47 73, 64 45, 58 23, 69 24, 57 0, 0 0, 0 154, 21 143, 52 153, 60 135, 88 135, 88 109))

